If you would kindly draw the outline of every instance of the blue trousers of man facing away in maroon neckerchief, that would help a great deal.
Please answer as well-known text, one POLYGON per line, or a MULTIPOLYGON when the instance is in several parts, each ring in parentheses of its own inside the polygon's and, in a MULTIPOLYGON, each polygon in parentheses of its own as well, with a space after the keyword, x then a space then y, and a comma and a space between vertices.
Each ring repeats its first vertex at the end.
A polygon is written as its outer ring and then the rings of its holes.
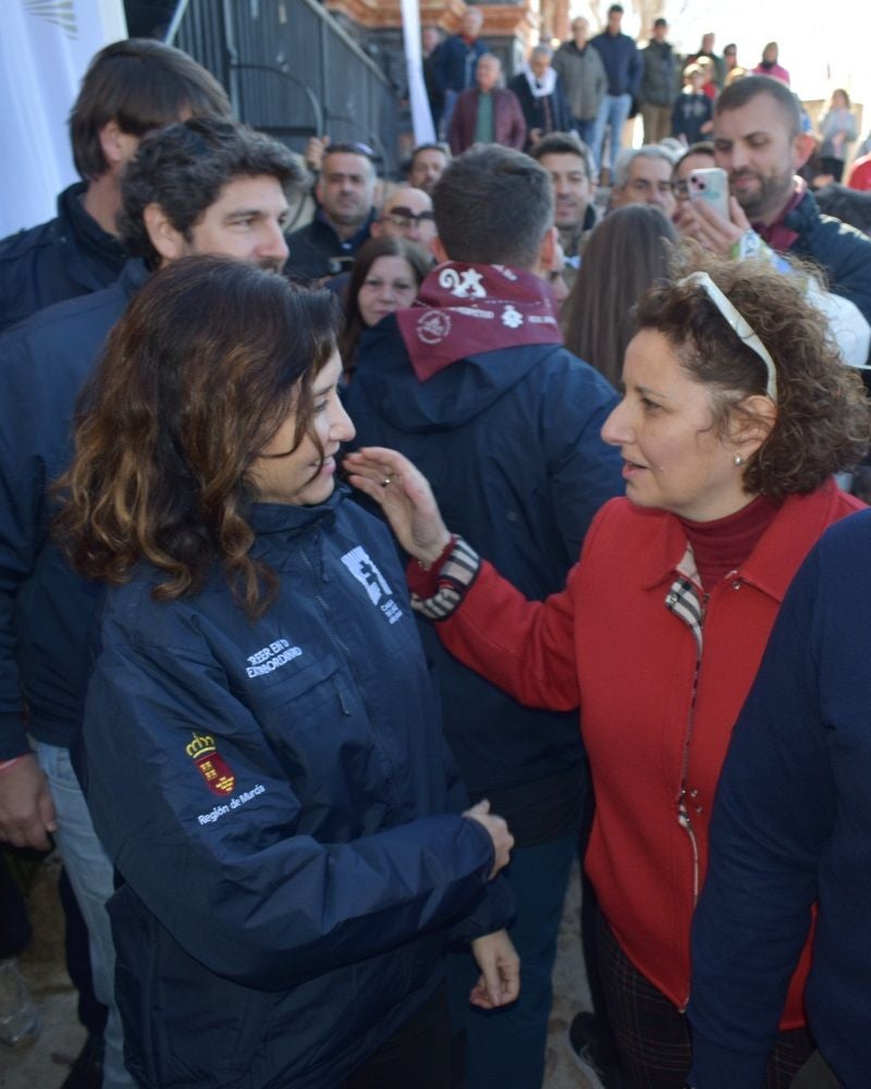
POLYGON ((465 1029, 464 1089, 541 1089, 556 938, 578 834, 512 852, 503 870, 517 898, 508 933, 520 954, 520 996, 503 1010, 478 1010, 469 991, 479 971, 466 952, 447 958, 454 1035, 465 1029))

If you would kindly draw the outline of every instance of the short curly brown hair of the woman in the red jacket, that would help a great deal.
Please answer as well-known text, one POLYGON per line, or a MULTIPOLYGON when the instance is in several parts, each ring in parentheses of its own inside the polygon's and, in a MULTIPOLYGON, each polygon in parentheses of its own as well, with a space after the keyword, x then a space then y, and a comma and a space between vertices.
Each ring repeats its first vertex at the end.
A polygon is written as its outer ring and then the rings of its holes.
POLYGON ((703 286, 683 282, 704 271, 750 323, 777 376, 776 418, 747 462, 745 490, 782 499, 819 488, 833 473, 857 466, 871 445, 871 403, 861 378, 845 366, 829 321, 807 296, 808 273, 784 274, 764 259, 731 261, 685 255, 675 281, 641 299, 637 328, 661 332, 687 372, 711 387, 714 427, 725 435, 744 404, 765 396, 763 360, 726 322, 703 286))

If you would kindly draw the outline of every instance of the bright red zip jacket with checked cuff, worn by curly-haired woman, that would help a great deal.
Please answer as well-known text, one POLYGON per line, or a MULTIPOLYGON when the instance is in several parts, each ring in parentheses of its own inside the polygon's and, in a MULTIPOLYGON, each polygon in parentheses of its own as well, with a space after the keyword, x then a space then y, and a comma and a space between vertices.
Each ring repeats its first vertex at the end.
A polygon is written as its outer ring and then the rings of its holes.
MULTIPOLYGON (((599 512, 562 594, 528 602, 484 564, 463 608, 438 625, 461 660, 522 702, 580 705, 597 804, 587 870, 629 958, 682 1008, 732 727, 793 575, 826 526, 862 506, 834 484, 789 497, 747 562, 711 592, 700 658, 665 605, 687 547, 683 527, 626 499, 599 512), (682 787, 691 830, 678 819, 682 787)), ((784 1028, 805 1021, 808 965, 806 949, 784 1028)))

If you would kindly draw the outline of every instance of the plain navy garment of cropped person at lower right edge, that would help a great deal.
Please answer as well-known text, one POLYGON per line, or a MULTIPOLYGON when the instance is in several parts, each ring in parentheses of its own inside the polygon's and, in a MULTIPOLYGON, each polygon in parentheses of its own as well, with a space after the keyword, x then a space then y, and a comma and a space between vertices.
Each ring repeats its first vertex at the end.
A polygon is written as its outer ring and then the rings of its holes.
POLYGON ((826 530, 732 736, 692 931, 694 1078, 758 1089, 819 904, 810 1028, 845 1089, 871 1069, 871 512, 826 530))

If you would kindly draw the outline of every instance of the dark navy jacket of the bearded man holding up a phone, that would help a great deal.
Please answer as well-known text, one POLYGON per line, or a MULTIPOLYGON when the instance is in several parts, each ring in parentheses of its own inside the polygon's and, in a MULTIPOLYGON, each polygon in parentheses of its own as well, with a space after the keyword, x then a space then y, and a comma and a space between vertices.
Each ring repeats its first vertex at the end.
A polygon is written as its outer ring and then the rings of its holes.
POLYGON ((810 192, 785 222, 798 233, 789 253, 817 261, 831 291, 849 298, 871 322, 871 238, 839 219, 823 216, 810 192))

